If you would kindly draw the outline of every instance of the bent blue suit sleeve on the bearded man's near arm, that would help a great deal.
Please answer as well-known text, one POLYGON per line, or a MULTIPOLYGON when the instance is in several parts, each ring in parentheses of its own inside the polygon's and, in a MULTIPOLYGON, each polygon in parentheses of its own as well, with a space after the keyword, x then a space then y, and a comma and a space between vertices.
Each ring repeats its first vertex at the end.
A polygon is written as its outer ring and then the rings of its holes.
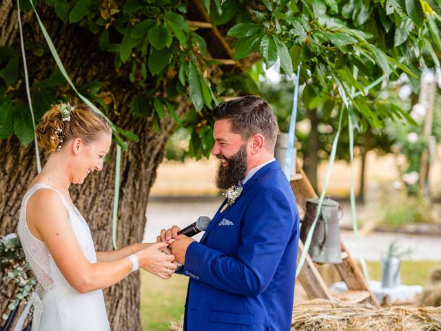
POLYGON ((256 296, 264 292, 296 230, 294 209, 276 188, 258 192, 245 213, 237 257, 194 242, 185 254, 185 270, 230 293, 256 296))

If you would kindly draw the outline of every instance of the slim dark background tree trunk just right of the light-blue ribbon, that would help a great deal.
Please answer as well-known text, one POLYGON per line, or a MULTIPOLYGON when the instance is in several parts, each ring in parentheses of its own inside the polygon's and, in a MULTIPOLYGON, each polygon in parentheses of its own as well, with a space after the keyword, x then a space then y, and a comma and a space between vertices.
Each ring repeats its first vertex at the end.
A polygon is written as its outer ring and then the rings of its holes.
POLYGON ((317 170, 320 159, 318 157, 318 150, 320 148, 320 140, 318 139, 318 123, 320 122, 317 116, 317 111, 309 110, 309 121, 311 121, 311 131, 309 132, 309 140, 307 148, 305 148, 305 162, 303 168, 312 187, 318 192, 317 186, 317 170))

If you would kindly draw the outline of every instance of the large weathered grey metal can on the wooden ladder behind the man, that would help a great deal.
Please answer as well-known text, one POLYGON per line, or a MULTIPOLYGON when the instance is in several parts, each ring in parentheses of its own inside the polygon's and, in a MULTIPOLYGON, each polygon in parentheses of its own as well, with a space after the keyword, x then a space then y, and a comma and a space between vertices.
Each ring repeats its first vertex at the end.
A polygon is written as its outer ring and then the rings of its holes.
MULTIPOLYGON (((319 199, 307 199, 305 217, 300 228, 300 239, 303 243, 316 218, 319 199)), ((342 263, 340 246, 340 228, 338 226, 340 203, 325 198, 323 199, 322 209, 318 217, 316 228, 309 246, 309 255, 316 263, 342 263)))

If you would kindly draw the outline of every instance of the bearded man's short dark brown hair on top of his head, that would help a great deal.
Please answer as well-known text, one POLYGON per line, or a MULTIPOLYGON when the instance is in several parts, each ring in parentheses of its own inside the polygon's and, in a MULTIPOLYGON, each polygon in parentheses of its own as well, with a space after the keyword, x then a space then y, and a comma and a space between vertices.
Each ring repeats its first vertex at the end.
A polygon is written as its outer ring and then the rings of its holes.
POLYGON ((228 119, 231 130, 248 140, 254 134, 262 134, 265 148, 274 152, 278 125, 274 112, 267 101, 255 95, 247 95, 219 103, 213 110, 214 120, 228 119))

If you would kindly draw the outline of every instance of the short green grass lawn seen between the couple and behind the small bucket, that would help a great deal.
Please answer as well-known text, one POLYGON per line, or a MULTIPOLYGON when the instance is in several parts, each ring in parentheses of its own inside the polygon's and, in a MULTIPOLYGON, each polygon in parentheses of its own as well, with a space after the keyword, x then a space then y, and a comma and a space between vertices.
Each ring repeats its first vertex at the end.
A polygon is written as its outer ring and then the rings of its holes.
MULTIPOLYGON (((425 285, 434 261, 403 261, 401 282, 407 285, 425 285)), ((379 261, 367 261, 369 276, 381 280, 379 261)), ((168 330, 171 321, 181 319, 184 313, 188 278, 179 274, 164 281, 141 270, 141 325, 143 331, 168 330)))

